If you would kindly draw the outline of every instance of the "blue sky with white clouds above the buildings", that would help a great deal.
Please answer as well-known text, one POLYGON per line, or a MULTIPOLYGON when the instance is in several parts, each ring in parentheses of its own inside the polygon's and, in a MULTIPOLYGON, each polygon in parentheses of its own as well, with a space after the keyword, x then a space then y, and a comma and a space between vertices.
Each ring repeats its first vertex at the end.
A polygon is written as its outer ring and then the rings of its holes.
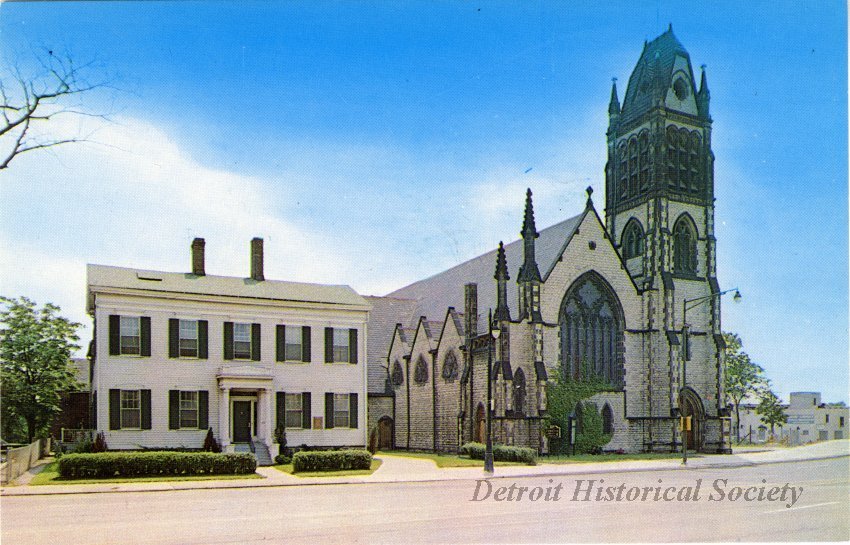
POLYGON ((787 400, 848 400, 847 13, 823 2, 32 2, 3 61, 46 47, 117 90, 92 141, 0 172, 0 291, 86 324, 85 264, 266 274, 383 294, 601 210, 611 78, 673 24, 708 66, 724 329, 787 400), (529 170, 531 169, 531 170, 529 170))

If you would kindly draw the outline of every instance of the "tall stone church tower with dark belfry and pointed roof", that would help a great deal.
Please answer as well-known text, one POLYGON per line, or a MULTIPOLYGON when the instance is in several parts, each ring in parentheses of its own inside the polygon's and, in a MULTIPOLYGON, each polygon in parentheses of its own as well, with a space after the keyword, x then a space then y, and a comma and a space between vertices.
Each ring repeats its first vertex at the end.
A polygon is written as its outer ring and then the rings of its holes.
MULTIPOLYGON (((643 293, 647 406, 641 417, 694 416, 687 439, 722 450, 723 345, 714 238, 714 155, 705 67, 694 76, 672 26, 651 42, 622 105, 616 79, 608 107, 606 228, 643 293), (704 298, 704 304, 695 300, 704 298), (684 306, 690 359, 682 348, 684 306), (691 305, 693 309, 691 309, 691 305)), ((637 327, 637 326, 631 326, 637 327)), ((635 415, 637 416, 637 415, 635 415)), ((654 428, 650 443, 682 437, 654 428)))

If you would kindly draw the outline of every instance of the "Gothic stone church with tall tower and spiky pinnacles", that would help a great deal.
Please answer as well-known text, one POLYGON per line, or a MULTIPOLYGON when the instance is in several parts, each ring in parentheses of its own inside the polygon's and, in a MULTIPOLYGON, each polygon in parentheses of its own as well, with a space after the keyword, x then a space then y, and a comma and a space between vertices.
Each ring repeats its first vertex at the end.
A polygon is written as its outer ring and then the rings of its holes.
POLYGON ((520 240, 369 298, 373 442, 483 441, 492 362, 497 443, 545 452, 547 387, 593 372, 613 386, 585 405, 605 450, 729 451, 709 90, 672 27, 608 113, 604 220, 588 188, 580 214, 538 230, 529 190, 520 240))

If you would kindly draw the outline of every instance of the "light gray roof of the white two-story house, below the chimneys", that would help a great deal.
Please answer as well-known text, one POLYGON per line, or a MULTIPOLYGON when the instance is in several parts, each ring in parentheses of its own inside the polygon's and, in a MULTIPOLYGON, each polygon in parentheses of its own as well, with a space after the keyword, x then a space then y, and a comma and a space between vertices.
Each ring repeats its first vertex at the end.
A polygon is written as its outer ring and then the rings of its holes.
MULTIPOLYGON (((329 286, 280 280, 256 281, 232 276, 196 276, 190 273, 169 273, 88 265, 88 290, 129 289, 140 291, 298 301, 362 307, 369 303, 349 286, 329 286)), ((89 302, 91 308, 91 301, 89 302)))

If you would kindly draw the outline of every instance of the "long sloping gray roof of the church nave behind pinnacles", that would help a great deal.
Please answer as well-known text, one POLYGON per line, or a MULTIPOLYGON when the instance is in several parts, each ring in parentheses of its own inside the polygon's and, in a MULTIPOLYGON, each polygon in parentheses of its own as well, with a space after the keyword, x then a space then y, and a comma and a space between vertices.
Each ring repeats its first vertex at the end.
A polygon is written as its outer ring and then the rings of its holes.
MULTIPOLYGON (((584 213, 540 231, 540 236, 535 242, 535 254, 544 281, 552 272, 583 217, 584 213)), ((523 262, 523 241, 520 239, 506 244, 505 255, 511 278, 517 278, 523 262)), ((448 307, 455 307, 462 311, 464 308, 464 284, 477 283, 478 331, 486 331, 487 310, 496 308, 496 281, 493 279, 495 270, 496 250, 494 249, 447 271, 396 290, 390 293, 388 297, 416 301, 416 307, 409 314, 408 321, 405 324, 415 325, 420 316, 444 319, 448 307)), ((511 318, 517 319, 517 283, 509 280, 507 287, 511 318)), ((404 322, 402 316, 399 316, 396 321, 404 322)))

